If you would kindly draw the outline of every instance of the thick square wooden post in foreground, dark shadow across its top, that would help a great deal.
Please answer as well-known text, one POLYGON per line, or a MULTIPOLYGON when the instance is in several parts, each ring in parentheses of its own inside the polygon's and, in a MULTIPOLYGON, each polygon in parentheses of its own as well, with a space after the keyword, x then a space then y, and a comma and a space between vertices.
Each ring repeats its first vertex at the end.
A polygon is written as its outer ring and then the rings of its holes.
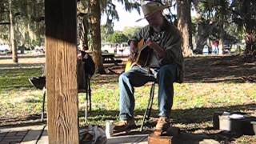
POLYGON ((46 90, 49 143, 78 138, 76 1, 46 0, 46 90))

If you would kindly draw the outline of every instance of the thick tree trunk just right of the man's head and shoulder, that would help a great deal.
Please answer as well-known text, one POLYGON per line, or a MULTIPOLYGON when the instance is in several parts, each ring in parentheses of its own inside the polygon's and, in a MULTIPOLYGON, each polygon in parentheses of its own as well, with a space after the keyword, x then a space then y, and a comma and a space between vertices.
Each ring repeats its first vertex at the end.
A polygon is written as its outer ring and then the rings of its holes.
POLYGON ((192 54, 192 30, 191 30, 191 1, 178 0, 177 14, 178 14, 178 30, 182 33, 182 51, 184 56, 192 54))

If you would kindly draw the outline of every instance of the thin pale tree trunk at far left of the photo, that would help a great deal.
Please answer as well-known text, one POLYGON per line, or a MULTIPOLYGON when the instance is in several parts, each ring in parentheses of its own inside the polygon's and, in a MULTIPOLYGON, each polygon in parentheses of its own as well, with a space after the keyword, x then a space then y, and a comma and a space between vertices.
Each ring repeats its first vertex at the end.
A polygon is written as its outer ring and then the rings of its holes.
POLYGON ((11 5, 12 5, 12 0, 9 0, 9 18, 10 18, 10 47, 11 47, 11 51, 12 51, 12 58, 13 58, 13 62, 18 63, 18 54, 17 54, 17 46, 16 46, 16 42, 15 42, 15 36, 14 36, 14 18, 13 18, 13 14, 12 14, 12 9, 11 9, 11 5))

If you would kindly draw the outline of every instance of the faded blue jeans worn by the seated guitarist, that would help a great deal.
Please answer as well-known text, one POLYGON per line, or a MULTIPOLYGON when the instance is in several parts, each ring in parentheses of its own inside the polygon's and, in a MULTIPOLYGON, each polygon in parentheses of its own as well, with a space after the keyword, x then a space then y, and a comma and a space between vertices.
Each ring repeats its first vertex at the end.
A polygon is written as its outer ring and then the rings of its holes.
POLYGON ((170 118, 170 110, 173 105, 174 86, 177 75, 177 65, 169 64, 155 70, 150 74, 148 70, 134 66, 131 70, 119 77, 120 102, 119 117, 121 120, 134 118, 134 86, 143 86, 146 82, 158 82, 158 116, 170 118))

